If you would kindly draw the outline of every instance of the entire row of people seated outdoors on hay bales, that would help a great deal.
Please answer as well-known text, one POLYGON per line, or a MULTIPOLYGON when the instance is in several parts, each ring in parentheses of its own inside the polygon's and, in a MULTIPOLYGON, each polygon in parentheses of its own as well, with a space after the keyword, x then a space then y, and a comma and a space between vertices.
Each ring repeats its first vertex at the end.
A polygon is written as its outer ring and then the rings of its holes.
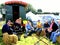
POLYGON ((59 26, 55 23, 54 19, 51 20, 51 24, 46 21, 44 25, 40 20, 37 21, 36 29, 33 27, 31 21, 27 20, 27 23, 24 25, 22 23, 22 19, 16 19, 13 23, 11 20, 8 20, 5 25, 2 27, 2 33, 7 32, 8 34, 16 34, 18 36, 18 40, 20 40, 20 36, 22 32, 24 32, 24 38, 31 35, 32 33, 37 32, 37 35, 40 35, 42 30, 45 31, 46 37, 52 40, 53 43, 56 42, 57 36, 60 36, 60 20, 58 21, 59 26))

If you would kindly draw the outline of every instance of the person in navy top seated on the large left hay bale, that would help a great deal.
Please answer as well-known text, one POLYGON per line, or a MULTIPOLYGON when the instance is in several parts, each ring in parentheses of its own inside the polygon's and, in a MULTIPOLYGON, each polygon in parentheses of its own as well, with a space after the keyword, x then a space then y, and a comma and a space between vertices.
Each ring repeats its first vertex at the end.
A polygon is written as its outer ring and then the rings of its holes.
POLYGON ((11 28, 12 27, 12 22, 11 20, 8 20, 6 24, 3 25, 2 27, 2 33, 8 33, 8 34, 13 34, 13 29, 11 28))

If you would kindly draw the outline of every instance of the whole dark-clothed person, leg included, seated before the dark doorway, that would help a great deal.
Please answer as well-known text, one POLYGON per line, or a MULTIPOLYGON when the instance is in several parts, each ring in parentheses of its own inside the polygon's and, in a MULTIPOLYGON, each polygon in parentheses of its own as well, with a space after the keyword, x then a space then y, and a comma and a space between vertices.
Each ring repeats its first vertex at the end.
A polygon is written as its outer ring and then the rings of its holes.
POLYGON ((20 36, 22 34, 21 18, 16 19, 14 23, 14 33, 18 36, 18 40, 20 41, 20 36))

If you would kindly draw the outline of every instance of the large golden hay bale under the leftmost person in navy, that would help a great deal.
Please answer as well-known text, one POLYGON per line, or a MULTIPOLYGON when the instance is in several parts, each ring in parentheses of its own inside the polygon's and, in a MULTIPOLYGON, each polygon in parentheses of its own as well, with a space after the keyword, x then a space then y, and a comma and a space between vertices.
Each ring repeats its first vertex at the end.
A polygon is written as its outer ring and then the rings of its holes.
POLYGON ((4 33, 2 39, 6 45, 17 44, 18 41, 18 37, 15 34, 9 35, 8 33, 4 33))

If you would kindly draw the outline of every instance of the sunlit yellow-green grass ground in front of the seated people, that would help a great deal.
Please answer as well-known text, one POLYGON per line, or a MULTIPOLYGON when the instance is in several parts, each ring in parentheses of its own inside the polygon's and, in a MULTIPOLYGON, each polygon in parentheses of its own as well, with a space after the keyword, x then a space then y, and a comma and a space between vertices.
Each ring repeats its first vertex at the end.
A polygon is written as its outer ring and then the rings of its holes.
MULTIPOLYGON (((2 25, 3 22, 0 22, 0 36, 2 35, 1 32, 2 25)), ((18 41, 16 45, 60 45, 59 43, 52 44, 52 42, 49 41, 49 39, 44 36, 40 36, 38 38, 35 34, 32 34, 27 38, 24 38, 24 34, 22 34, 20 39, 21 40, 18 41)), ((0 37, 0 45, 5 45, 2 41, 2 37, 0 37)))

